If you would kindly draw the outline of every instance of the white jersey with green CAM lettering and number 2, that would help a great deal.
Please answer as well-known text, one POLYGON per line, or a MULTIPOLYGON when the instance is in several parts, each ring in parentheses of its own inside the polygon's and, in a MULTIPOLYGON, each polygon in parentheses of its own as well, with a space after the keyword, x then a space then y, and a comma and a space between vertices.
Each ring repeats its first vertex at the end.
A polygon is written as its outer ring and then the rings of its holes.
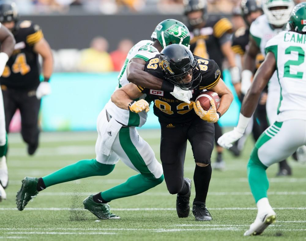
POLYGON ((306 35, 283 31, 268 41, 266 52, 275 56, 280 85, 276 120, 306 120, 306 35))

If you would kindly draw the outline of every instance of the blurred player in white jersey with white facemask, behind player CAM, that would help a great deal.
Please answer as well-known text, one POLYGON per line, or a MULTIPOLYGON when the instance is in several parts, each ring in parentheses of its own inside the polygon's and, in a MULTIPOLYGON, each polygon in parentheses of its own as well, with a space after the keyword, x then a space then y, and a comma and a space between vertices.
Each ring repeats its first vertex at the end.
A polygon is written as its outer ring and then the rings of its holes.
MULTIPOLYGON (((290 13, 294 7, 292 0, 267 0, 263 4, 264 14, 259 16, 250 27, 248 50, 244 56, 244 70, 241 73, 241 92, 246 93, 251 85, 255 70, 256 56, 265 55, 265 45, 269 39, 285 29, 290 13)), ((274 123, 278 113, 280 86, 275 72, 268 84, 267 116, 269 123, 274 123)), ((291 168, 286 160, 279 162, 277 176, 290 176, 291 168)))

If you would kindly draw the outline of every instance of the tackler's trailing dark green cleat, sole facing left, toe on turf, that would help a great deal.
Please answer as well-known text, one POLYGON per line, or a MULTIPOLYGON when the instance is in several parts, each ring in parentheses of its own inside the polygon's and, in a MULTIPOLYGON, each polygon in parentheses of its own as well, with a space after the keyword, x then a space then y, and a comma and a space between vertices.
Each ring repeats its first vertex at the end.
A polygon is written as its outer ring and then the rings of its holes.
POLYGON ((38 178, 27 176, 21 182, 21 188, 16 195, 16 204, 19 211, 22 211, 28 202, 38 194, 36 189, 38 178))

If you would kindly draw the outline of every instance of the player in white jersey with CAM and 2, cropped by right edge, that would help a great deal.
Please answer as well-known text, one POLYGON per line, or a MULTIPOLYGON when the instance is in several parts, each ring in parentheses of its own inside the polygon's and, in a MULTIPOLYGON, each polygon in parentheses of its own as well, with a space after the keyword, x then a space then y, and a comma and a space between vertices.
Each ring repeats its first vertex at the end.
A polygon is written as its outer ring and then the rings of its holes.
POLYGON ((306 144, 306 2, 293 9, 288 30, 267 42, 267 56, 244 97, 237 127, 218 139, 221 146, 229 148, 243 135, 261 91, 276 71, 280 98, 274 101, 278 102, 278 114, 275 122, 257 140, 247 166, 248 182, 258 213, 254 223, 244 233, 246 236, 261 234, 276 218, 267 198, 269 182, 266 169, 306 144))

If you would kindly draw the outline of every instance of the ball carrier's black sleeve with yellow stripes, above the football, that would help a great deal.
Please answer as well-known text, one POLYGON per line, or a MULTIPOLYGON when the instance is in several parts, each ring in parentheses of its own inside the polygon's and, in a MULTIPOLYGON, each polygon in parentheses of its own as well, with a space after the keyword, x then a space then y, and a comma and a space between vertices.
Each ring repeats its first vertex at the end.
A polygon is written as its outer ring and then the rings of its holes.
POLYGON ((207 71, 202 71, 202 82, 200 90, 211 89, 217 85, 220 80, 221 71, 217 63, 210 59, 207 64, 207 71))

